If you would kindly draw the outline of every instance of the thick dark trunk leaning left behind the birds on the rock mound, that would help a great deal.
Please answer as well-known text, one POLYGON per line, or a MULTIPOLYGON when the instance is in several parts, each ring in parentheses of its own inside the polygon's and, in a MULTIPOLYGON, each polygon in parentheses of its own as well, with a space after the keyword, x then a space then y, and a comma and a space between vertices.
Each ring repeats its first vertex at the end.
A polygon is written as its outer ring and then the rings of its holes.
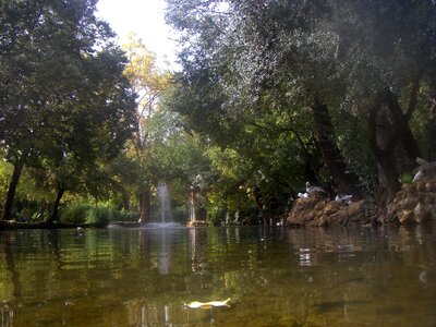
POLYGON ((360 183, 359 178, 350 172, 342 154, 336 145, 335 130, 327 105, 315 98, 312 105, 312 112, 323 159, 331 177, 338 183, 339 192, 351 194, 355 198, 362 197, 362 191, 358 186, 360 183))

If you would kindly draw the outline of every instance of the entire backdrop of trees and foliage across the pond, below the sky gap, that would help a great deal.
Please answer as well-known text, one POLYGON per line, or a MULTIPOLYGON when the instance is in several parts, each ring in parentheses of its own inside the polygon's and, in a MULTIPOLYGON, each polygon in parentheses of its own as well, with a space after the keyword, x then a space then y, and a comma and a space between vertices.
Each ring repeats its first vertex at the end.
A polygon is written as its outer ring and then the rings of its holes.
POLYGON ((435 160, 432 0, 167 0, 173 74, 95 4, 0 3, 3 219, 53 221, 62 199, 66 220, 145 222, 166 182, 177 220, 195 202, 271 223, 306 181, 383 207, 435 160))

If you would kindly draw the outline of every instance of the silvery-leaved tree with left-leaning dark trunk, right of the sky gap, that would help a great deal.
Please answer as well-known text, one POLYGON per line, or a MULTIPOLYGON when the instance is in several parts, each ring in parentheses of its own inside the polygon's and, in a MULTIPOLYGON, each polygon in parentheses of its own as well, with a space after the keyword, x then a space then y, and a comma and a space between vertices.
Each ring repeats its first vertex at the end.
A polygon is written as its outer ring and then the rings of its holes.
MULTIPOLYGON (((202 1, 196 5, 190 1, 182 2, 181 5, 171 7, 172 2, 169 1, 168 13, 169 20, 182 31, 181 40, 186 45, 180 53, 184 65, 180 78, 189 94, 189 102, 177 108, 181 112, 187 110, 197 128, 211 130, 221 142, 229 140, 227 135, 234 134, 232 128, 226 129, 223 117, 235 117, 240 125, 244 121, 250 124, 251 120, 262 117, 265 110, 279 110, 282 114, 295 117, 301 108, 312 108, 317 123, 311 130, 316 130, 317 143, 330 172, 342 191, 360 194, 360 190, 353 186, 358 178, 348 178, 346 161, 335 147, 328 110, 323 110, 323 116, 318 116, 320 109, 327 108, 324 100, 320 104, 319 97, 324 96, 320 81, 325 73, 322 70, 331 71, 326 65, 328 58, 315 62, 310 56, 314 50, 313 41, 306 40, 303 35, 288 40, 288 48, 284 48, 284 40, 279 38, 281 33, 291 33, 292 28, 310 27, 308 20, 293 23, 287 19, 292 10, 303 4, 299 1, 295 2, 296 7, 269 5, 268 1, 202 1), (311 71, 310 75, 303 75, 306 70, 311 71), (302 99, 303 96, 308 100, 302 99), (265 101, 265 98, 271 100, 265 101), (192 105, 193 101, 197 101, 196 106, 192 105), (271 109, 265 102, 269 102, 271 109), (252 118, 246 119, 250 116, 252 118), (195 120, 202 121, 196 123, 195 120), (222 134, 226 136, 222 137, 222 134), (339 161, 342 161, 341 166, 336 165, 339 161)), ((294 142, 300 143, 304 153, 305 144, 302 141, 310 138, 310 131, 302 130, 296 119, 293 120, 289 120, 286 132, 294 133, 294 142)), ((279 131, 282 131, 282 126, 279 131)), ((304 157, 312 158, 307 152, 304 157)), ((315 162, 308 165, 312 168, 315 166, 315 162)))

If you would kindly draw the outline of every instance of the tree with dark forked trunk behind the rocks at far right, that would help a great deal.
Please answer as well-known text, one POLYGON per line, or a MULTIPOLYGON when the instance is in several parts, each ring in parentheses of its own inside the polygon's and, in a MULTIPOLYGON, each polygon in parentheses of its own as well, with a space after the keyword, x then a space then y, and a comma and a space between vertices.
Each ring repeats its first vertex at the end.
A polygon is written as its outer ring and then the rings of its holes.
POLYGON ((400 189, 398 171, 404 168, 398 160, 410 172, 421 156, 410 121, 422 85, 435 74, 436 5, 433 1, 338 1, 334 10, 338 60, 348 93, 353 102, 360 101, 355 107, 368 112, 383 204, 400 189))

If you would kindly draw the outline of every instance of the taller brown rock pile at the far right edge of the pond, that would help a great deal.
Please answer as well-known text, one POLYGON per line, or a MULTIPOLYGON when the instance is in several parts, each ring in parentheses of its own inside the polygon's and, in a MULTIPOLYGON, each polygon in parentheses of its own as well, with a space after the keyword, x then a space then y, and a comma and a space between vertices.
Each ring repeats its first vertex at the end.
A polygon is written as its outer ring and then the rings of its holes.
POLYGON ((387 206, 384 222, 421 223, 436 219, 436 181, 426 177, 412 184, 404 184, 387 206))

